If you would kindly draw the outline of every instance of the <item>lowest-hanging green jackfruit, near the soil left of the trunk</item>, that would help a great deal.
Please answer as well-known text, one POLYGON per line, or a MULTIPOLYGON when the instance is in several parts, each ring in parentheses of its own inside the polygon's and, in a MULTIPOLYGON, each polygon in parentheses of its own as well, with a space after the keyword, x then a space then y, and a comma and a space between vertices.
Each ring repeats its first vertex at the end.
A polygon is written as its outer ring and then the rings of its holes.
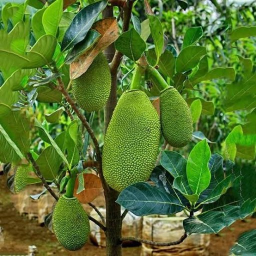
POLYGON ((78 250, 87 241, 90 225, 76 197, 62 195, 54 208, 52 226, 59 243, 68 250, 78 250))

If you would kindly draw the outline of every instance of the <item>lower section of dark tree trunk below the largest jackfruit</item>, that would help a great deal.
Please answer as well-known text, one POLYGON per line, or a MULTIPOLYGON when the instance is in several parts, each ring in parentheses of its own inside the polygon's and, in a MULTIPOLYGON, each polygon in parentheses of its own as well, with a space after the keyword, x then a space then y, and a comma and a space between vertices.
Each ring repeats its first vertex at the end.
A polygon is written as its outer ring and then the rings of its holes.
POLYGON ((121 208, 120 205, 115 202, 118 193, 114 190, 110 190, 106 193, 106 256, 121 256, 121 208))

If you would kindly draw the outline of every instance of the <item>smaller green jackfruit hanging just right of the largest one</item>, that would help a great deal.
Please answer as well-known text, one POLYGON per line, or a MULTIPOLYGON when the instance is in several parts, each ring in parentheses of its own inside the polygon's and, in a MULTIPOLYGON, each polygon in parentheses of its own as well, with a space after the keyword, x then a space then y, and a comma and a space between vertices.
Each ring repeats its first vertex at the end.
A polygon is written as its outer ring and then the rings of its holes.
POLYGON ((160 120, 163 137, 174 147, 186 145, 192 137, 193 121, 190 109, 175 88, 160 94, 160 120))

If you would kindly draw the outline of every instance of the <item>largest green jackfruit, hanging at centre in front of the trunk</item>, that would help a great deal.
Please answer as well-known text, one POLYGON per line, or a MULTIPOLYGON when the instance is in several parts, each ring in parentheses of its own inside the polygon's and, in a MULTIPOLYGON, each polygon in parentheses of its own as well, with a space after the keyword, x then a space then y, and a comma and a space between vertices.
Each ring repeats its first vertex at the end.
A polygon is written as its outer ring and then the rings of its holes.
POLYGON ((157 159, 160 121, 146 94, 124 92, 108 125, 102 154, 103 174, 117 191, 148 180, 157 159))

